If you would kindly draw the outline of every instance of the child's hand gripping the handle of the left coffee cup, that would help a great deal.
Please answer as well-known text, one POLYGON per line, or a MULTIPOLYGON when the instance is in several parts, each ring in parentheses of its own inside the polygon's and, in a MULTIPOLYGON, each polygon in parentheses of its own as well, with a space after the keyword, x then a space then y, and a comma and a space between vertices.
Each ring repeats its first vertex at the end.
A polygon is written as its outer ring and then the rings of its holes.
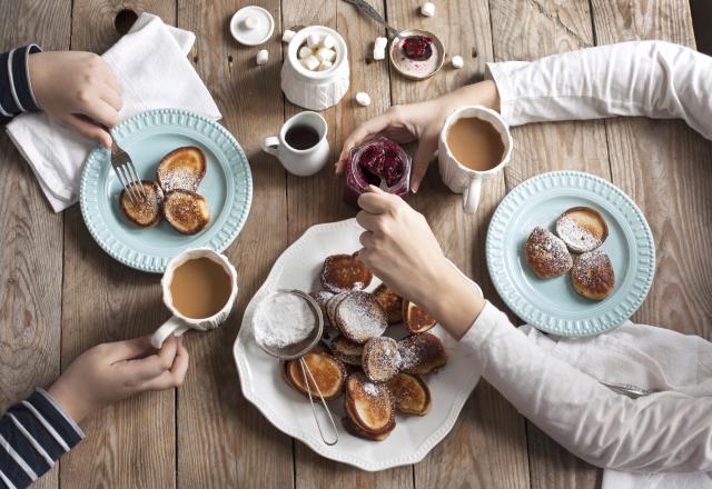
POLYGON ((79 422, 89 412, 131 395, 182 383, 188 351, 182 338, 169 337, 152 355, 150 337, 98 345, 79 356, 49 389, 79 422))

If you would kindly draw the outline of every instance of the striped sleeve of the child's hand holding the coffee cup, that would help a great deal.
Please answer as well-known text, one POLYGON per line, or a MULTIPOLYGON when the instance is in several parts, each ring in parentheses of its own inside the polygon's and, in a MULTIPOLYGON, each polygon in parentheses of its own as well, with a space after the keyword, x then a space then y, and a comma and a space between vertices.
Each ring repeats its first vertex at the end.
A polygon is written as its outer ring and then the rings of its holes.
POLYGON ((38 388, 0 418, 0 488, 28 487, 83 437, 51 396, 38 388))

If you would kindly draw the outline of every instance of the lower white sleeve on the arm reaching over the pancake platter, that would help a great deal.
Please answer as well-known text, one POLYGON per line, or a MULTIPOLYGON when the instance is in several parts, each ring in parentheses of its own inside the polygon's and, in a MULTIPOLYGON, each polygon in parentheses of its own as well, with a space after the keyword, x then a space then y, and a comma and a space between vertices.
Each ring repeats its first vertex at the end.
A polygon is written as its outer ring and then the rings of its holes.
POLYGON ((587 462, 642 472, 712 470, 712 398, 617 395, 528 341, 490 302, 461 342, 522 415, 587 462))

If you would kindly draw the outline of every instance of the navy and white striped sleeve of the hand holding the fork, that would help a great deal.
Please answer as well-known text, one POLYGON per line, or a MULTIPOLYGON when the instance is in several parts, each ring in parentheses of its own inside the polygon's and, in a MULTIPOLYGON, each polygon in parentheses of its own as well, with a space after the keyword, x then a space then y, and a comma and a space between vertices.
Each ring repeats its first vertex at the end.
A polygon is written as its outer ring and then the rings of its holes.
POLYGON ((30 81, 29 57, 41 52, 37 44, 28 44, 0 53, 0 123, 20 112, 40 110, 30 81))

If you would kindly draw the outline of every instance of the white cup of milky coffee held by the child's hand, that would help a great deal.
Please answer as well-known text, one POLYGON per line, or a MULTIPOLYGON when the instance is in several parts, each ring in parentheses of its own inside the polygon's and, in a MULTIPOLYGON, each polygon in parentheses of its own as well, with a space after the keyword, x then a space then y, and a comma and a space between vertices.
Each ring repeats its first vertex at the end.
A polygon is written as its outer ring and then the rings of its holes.
POLYGON ((166 271, 160 280, 160 286, 164 291, 164 303, 168 310, 172 313, 172 317, 161 325, 160 328, 151 336, 151 345, 154 348, 160 348, 166 339, 174 335, 180 336, 189 329, 198 331, 207 331, 220 326, 230 313, 235 299, 237 298, 237 271, 235 267, 228 261, 225 255, 220 255, 209 248, 192 248, 184 251, 182 253, 174 257, 166 266, 166 271), (174 273, 178 267, 189 260, 196 258, 208 258, 216 263, 220 265, 225 270, 225 273, 230 278, 230 296, 227 299, 222 309, 208 318, 188 318, 180 313, 174 305, 174 300, 170 292, 170 285, 174 279, 174 273))

